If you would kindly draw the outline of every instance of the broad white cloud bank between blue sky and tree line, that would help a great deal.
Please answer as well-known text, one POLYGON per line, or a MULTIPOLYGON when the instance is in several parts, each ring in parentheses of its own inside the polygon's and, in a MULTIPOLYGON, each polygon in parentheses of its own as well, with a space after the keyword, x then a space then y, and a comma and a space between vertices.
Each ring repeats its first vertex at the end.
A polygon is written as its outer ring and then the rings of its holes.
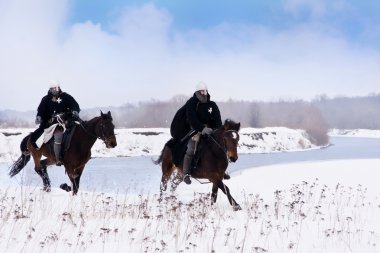
POLYGON ((148 4, 126 8, 109 32, 91 21, 65 27, 68 1, 0 7, 0 110, 35 110, 51 79, 83 108, 190 95, 199 80, 216 100, 380 92, 379 52, 323 24, 184 32, 148 4))

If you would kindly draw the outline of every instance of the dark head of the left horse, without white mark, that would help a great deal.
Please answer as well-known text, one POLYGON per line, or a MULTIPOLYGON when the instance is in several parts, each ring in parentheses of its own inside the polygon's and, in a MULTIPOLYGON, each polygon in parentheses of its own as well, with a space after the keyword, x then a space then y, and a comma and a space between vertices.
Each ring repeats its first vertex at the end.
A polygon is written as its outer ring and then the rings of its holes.
POLYGON ((107 148, 114 148, 117 145, 115 136, 115 126, 112 123, 111 112, 103 113, 100 111, 100 120, 97 126, 96 134, 104 141, 107 148))

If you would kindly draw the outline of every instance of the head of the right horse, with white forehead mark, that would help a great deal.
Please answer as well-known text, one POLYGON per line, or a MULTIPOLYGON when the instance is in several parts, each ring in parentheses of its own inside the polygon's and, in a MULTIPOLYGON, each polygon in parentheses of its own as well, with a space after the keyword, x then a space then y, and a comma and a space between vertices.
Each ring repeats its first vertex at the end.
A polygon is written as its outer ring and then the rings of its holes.
POLYGON ((239 157, 237 147, 240 139, 240 123, 236 123, 233 120, 226 119, 224 121, 223 129, 223 138, 226 145, 227 157, 231 162, 236 162, 236 160, 239 157))

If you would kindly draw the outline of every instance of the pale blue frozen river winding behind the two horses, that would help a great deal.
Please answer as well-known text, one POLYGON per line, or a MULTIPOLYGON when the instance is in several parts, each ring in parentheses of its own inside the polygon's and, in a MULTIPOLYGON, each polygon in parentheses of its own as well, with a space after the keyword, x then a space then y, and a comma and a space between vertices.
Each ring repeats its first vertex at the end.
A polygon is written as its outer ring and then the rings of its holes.
MULTIPOLYGON (((332 137, 330 142, 331 145, 323 149, 267 154, 241 154, 236 163, 230 164, 228 171, 233 176, 233 173, 238 170, 280 163, 380 158, 379 138, 332 137)), ((156 156, 138 156, 92 159, 87 164, 82 175, 80 190, 158 193, 161 168, 153 164, 152 159, 156 158, 156 156)), ((12 179, 7 176, 8 166, 9 164, 0 164, 1 185, 42 186, 41 179, 34 172, 33 162, 28 163, 20 176, 12 179)), ((52 187, 58 187, 64 182, 69 183, 63 167, 50 167, 48 172, 52 187)))

